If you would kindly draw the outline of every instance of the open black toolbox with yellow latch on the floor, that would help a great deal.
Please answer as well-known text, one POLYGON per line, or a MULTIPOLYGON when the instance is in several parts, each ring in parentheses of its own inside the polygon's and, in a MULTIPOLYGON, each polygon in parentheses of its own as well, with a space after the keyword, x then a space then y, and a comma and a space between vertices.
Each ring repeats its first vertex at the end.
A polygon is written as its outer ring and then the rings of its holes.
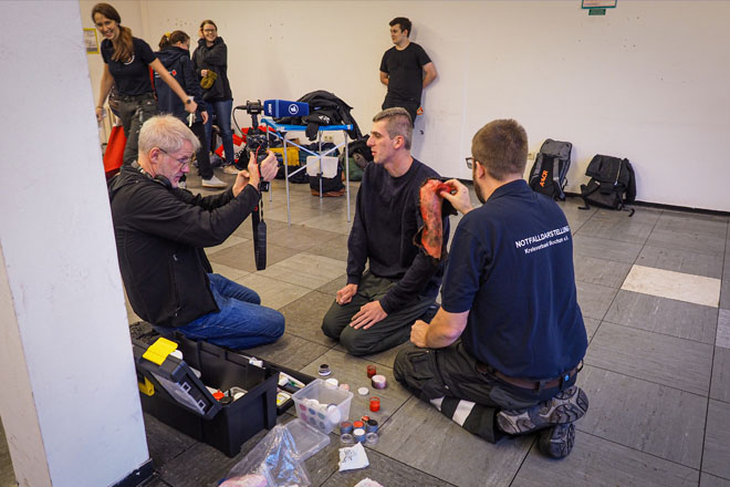
POLYGON ((159 339, 147 345, 133 341, 143 411, 229 457, 261 429, 277 424, 279 371, 252 365, 246 356, 179 334, 176 342, 159 339), (169 355, 176 345, 182 361, 169 355), (200 372, 200 379, 190 367, 200 372), (221 404, 206 385, 220 391, 238 386, 247 393, 221 404))

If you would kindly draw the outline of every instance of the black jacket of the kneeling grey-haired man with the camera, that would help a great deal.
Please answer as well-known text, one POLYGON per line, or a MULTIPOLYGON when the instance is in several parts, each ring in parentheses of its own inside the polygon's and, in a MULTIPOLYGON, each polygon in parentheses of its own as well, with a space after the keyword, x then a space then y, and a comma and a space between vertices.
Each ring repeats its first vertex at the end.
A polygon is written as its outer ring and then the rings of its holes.
POLYGON ((168 188, 131 166, 109 180, 122 279, 143 320, 179 327, 219 311, 210 292, 210 262, 202 250, 222 244, 249 216, 259 191, 248 185, 194 196, 168 188))

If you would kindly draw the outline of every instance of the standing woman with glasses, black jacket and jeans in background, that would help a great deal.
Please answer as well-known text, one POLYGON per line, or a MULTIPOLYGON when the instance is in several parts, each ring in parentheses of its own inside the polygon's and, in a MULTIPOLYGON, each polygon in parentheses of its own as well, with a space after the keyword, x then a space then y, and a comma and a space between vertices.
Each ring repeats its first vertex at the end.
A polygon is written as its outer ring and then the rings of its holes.
MULTIPOLYGON (((204 20, 198 31, 200 39, 192 53, 192 65, 204 87, 202 97, 210 104, 210 115, 216 115, 216 123, 220 128, 226 154, 225 168, 227 174, 238 174, 232 166, 236 163, 233 153, 233 132, 231 131, 231 112, 233 110, 233 94, 228 81, 228 46, 223 38, 218 35, 218 27, 212 20, 204 20)), ((206 123, 206 136, 210 143, 212 137, 212 117, 206 123)))

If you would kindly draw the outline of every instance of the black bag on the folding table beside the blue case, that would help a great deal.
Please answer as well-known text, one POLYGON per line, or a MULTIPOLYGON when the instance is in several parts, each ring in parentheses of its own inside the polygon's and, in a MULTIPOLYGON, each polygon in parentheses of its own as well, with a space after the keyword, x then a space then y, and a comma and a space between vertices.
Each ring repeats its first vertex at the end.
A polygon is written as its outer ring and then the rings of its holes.
POLYGON ((353 107, 333 93, 317 90, 305 94, 298 102, 310 104, 309 115, 285 116, 274 118, 274 122, 283 125, 306 125, 305 134, 310 141, 316 138, 316 133, 322 125, 352 125, 353 128, 347 131, 347 136, 353 141, 363 138, 357 122, 350 113, 353 107))

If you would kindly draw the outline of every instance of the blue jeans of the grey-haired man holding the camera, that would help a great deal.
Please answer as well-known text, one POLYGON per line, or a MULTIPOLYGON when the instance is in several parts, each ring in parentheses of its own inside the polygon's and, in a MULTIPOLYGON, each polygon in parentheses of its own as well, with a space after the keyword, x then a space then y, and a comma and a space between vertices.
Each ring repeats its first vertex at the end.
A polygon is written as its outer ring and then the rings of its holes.
POLYGON ((220 311, 204 314, 176 330, 192 340, 233 350, 272 343, 284 333, 284 315, 262 307, 255 291, 220 274, 209 273, 208 278, 220 311))

